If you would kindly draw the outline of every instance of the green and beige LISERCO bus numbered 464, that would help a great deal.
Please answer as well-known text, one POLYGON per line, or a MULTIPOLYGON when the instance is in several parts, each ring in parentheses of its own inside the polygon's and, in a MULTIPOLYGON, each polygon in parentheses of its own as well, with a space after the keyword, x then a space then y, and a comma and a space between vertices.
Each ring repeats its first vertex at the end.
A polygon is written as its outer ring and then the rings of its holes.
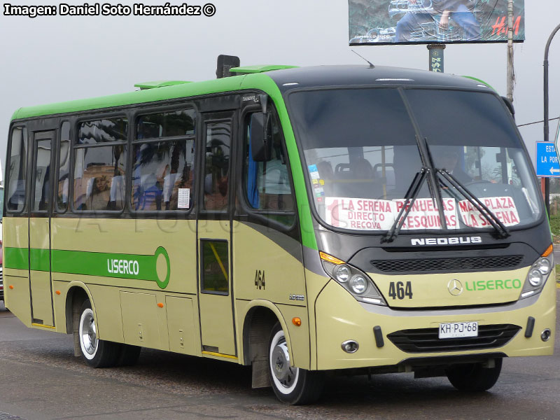
MULTIPOLYGON (((246 66, 16 111, 6 307, 92 367, 141 347, 485 391, 552 354, 549 224, 512 106, 477 80, 246 66)), ((335 377, 335 375, 330 375, 335 377)), ((335 380, 335 379, 333 379, 335 380)))

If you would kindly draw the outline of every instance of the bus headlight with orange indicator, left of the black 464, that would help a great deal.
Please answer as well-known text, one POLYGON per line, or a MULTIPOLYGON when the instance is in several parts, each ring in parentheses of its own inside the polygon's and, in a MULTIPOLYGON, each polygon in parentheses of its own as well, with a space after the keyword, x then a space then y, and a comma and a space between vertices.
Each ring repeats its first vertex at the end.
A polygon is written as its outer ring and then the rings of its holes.
POLYGON ((346 264, 346 262, 332 255, 323 252, 320 255, 325 272, 348 290, 356 300, 383 306, 387 305, 372 279, 363 271, 346 264))

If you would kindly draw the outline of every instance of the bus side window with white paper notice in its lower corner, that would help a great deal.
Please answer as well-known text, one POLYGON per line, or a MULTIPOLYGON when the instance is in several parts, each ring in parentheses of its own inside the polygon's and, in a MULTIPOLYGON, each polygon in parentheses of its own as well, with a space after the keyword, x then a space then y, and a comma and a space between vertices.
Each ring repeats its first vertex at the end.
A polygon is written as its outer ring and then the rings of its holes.
POLYGON ((192 207, 194 134, 195 111, 192 109, 139 117, 132 150, 134 210, 187 210, 192 207))

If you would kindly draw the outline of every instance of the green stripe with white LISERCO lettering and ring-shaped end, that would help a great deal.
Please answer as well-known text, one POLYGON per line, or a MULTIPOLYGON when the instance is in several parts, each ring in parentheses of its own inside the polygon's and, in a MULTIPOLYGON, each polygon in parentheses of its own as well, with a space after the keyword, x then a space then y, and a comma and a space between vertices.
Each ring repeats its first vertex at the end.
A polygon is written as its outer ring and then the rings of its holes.
MULTIPOLYGON (((27 269, 27 252, 27 248, 6 248, 4 267, 27 269)), ((154 255, 53 249, 50 256, 52 272, 57 273, 155 281, 160 288, 167 287, 171 276, 169 255, 162 246, 154 255)), ((48 249, 31 248, 31 269, 49 270, 48 249)))

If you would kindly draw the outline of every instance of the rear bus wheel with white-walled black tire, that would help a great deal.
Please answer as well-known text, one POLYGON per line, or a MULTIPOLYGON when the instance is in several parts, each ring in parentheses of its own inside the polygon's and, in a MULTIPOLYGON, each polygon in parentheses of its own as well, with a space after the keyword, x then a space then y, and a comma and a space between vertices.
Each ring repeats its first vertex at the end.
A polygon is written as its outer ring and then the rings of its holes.
POLYGON ((97 325, 89 299, 85 300, 80 310, 80 327, 78 330, 82 359, 91 367, 111 367, 116 365, 119 345, 97 338, 97 325))

